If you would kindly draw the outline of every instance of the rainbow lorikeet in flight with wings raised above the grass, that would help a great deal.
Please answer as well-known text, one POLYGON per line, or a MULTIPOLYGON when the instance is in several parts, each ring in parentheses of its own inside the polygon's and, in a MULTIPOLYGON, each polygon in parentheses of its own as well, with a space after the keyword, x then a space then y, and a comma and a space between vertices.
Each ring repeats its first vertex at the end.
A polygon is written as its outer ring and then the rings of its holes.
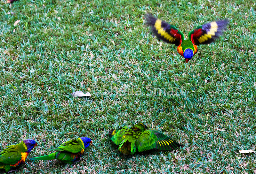
POLYGON ((146 15, 147 24, 153 33, 164 42, 178 46, 178 53, 183 56, 186 63, 197 53, 197 45, 215 42, 226 29, 228 20, 219 20, 198 26, 188 33, 188 39, 175 26, 172 26, 152 15, 146 15))

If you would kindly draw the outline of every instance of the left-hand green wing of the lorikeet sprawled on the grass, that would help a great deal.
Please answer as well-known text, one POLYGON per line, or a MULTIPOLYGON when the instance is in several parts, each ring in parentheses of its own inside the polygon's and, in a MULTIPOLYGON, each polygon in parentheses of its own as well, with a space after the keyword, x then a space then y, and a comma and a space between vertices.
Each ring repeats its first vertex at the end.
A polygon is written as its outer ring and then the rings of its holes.
POLYGON ((112 140, 116 145, 119 145, 124 140, 124 134, 129 129, 127 126, 120 127, 117 130, 111 130, 108 133, 108 140, 112 140))

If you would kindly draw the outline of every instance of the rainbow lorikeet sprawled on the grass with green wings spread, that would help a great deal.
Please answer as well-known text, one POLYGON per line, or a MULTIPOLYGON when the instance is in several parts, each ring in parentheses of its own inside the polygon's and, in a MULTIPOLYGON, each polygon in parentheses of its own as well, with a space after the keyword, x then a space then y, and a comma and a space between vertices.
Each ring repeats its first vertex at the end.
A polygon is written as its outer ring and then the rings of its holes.
POLYGON ((108 133, 108 140, 118 145, 118 150, 125 155, 132 155, 137 149, 142 152, 154 148, 171 150, 183 146, 163 133, 146 129, 147 126, 143 123, 138 123, 131 128, 120 127, 108 133))

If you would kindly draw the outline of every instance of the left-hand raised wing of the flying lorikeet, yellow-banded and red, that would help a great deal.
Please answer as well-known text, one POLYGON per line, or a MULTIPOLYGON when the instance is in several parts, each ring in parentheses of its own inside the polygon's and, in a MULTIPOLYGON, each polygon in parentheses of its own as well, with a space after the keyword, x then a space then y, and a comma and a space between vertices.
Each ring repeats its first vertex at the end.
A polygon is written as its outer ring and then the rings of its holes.
POLYGON ((164 42, 178 46, 184 40, 184 35, 175 26, 172 26, 161 19, 154 18, 150 14, 147 14, 145 18, 147 24, 151 26, 153 33, 164 42))

